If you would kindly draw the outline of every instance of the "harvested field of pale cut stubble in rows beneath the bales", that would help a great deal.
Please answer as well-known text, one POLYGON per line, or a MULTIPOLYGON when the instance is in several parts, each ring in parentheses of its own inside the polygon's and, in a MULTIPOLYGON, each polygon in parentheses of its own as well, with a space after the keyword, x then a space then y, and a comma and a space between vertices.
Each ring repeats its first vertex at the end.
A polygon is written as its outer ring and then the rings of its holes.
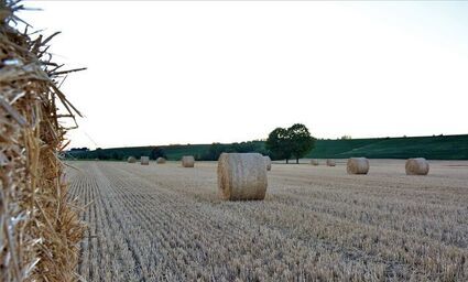
MULTIPOLYGON (((308 163, 308 162, 307 162, 308 163)), ((468 162, 276 164, 264 200, 224 202, 216 163, 70 162, 87 281, 467 281, 468 162)))

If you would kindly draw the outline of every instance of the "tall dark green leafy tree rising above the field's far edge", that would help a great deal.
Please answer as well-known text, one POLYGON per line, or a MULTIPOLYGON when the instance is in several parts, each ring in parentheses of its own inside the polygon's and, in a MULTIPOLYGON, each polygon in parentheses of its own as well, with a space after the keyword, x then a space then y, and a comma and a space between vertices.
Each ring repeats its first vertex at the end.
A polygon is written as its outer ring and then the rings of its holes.
POLYGON ((265 147, 275 160, 285 159, 289 163, 291 158, 296 159, 296 163, 315 145, 315 139, 311 137, 308 129, 301 123, 292 127, 276 128, 266 139, 265 147))

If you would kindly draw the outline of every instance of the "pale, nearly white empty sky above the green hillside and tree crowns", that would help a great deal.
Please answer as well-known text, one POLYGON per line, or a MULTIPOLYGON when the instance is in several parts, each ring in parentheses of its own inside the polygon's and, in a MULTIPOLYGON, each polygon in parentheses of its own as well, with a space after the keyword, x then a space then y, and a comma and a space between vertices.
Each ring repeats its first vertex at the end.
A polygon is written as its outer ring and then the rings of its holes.
POLYGON ((468 133, 468 2, 26 1, 85 115, 70 147, 468 133), (94 141, 92 141, 94 140, 94 141))

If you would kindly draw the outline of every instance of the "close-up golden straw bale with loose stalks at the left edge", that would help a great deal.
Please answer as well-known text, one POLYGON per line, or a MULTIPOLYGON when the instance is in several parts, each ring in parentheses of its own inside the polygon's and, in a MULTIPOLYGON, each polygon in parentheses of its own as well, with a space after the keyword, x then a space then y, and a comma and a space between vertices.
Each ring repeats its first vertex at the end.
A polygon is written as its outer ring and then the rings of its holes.
POLYGON ((57 33, 32 39, 12 28, 18 2, 0 0, 0 281, 76 281, 85 226, 58 159, 59 120, 79 115, 58 89, 74 70, 51 62, 57 33))

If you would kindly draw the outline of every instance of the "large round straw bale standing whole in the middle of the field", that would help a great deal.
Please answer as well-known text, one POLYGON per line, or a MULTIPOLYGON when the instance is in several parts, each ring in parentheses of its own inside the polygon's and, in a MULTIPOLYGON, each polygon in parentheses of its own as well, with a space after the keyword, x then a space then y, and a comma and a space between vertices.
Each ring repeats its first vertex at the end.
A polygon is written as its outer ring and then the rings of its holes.
POLYGON ((259 153, 222 153, 218 160, 218 191, 222 199, 263 199, 266 167, 259 153))

